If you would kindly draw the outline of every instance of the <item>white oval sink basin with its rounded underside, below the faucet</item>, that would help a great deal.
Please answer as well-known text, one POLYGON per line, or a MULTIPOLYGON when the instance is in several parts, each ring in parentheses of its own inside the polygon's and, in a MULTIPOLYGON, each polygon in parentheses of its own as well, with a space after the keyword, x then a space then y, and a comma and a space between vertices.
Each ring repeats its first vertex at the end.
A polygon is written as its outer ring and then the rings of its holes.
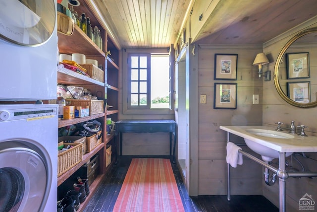
MULTIPOLYGON (((273 131, 273 130, 250 128, 250 129, 246 129, 246 132, 251 133, 253 135, 257 135, 257 136, 263 136, 263 137, 275 138, 275 139, 293 139, 294 138, 293 135, 282 133, 279 131, 273 131)), ((256 143, 246 138, 244 138, 244 141, 246 142, 249 148, 251 148, 256 153, 260 154, 264 161, 269 162, 269 161, 272 161, 274 158, 278 158, 279 154, 277 150, 268 148, 262 144, 256 143)), ((292 153, 293 152, 286 152, 285 157, 288 157, 292 153)))

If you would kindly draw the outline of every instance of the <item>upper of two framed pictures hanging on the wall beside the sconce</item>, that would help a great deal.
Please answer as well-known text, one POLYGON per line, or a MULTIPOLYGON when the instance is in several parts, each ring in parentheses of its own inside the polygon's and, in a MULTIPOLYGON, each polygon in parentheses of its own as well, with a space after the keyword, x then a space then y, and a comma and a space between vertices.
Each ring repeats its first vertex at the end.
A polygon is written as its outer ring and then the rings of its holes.
POLYGON ((237 79, 237 54, 214 54, 214 79, 237 79))

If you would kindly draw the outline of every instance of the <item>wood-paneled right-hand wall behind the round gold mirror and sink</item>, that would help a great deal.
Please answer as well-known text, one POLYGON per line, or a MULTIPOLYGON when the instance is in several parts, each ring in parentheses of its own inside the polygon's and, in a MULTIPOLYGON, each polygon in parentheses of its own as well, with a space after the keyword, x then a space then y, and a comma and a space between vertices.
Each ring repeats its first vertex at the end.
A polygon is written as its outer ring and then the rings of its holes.
MULTIPOLYGON (((312 22, 312 20, 311 20, 312 22)), ((317 19, 315 20, 314 25, 309 27, 317 26, 317 19)), ((307 23, 306 23, 307 25, 307 23)), ((306 26, 307 27, 307 26, 306 26)), ((275 61, 278 57, 280 50, 287 43, 290 38, 292 38, 296 32, 303 30, 305 27, 298 26, 293 30, 267 42, 264 44, 264 53, 269 56, 272 60, 268 67, 264 67, 264 69, 274 70, 275 61)), ((293 52, 307 52, 307 49, 297 49, 293 52)), ((312 65, 315 67, 311 69, 311 78, 316 74, 316 60, 314 53, 316 48, 311 48, 309 50, 310 60, 312 65), (315 64, 315 65, 314 65, 315 64)), ((284 61, 285 63, 285 61, 284 61)), ((285 65, 283 65, 285 67, 285 65)), ((316 78, 316 77, 315 77, 316 78)), ((311 79, 304 79, 311 80, 311 79)), ((302 80, 302 81, 304 81, 302 80)), ((299 79, 301 81, 301 79, 299 79)), ((316 95, 315 93, 312 95, 316 95)), ((277 121, 281 121, 284 124, 284 127, 289 127, 291 120, 295 121, 296 125, 304 124, 309 126, 306 130, 308 135, 317 135, 317 126, 316 126, 316 114, 317 108, 297 108, 291 105, 288 105, 277 93, 274 81, 264 82, 263 84, 263 124, 264 125, 275 125, 274 123, 277 121)), ((317 153, 306 153, 306 155, 317 159, 317 153)), ((317 162, 308 158, 303 158, 302 156, 297 156, 297 158, 303 163, 306 169, 311 171, 317 171, 316 164, 317 162)), ((286 158, 292 166, 301 170, 301 166, 296 162, 294 156, 290 156, 286 158)), ((277 160, 273 160, 273 162, 277 162, 277 160)), ((274 186, 267 186, 263 183, 263 194, 264 196, 270 200, 274 205, 278 207, 278 182, 275 183, 274 186)), ((305 194, 312 195, 313 199, 317 200, 317 179, 310 178, 288 178, 286 180, 286 211, 298 211, 299 210, 299 199, 302 198, 305 194)), ((316 207, 316 206, 315 206, 316 207)))

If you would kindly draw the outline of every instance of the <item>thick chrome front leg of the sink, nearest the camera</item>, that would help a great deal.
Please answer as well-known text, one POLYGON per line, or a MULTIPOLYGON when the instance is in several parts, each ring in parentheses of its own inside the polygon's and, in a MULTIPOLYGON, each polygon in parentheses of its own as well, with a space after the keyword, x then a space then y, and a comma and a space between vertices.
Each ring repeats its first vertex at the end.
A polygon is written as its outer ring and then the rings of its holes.
POLYGON ((285 152, 279 152, 279 165, 278 176, 279 177, 279 211, 286 212, 286 168, 285 168, 285 152))

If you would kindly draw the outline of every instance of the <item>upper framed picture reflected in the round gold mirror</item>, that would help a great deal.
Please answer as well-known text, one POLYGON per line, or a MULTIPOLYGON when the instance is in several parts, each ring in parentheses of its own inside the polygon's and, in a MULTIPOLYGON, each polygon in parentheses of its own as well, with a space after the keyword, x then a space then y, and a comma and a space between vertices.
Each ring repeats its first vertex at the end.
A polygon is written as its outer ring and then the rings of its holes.
POLYGON ((309 53, 288 53, 286 54, 287 60, 287 78, 309 78, 309 53))

